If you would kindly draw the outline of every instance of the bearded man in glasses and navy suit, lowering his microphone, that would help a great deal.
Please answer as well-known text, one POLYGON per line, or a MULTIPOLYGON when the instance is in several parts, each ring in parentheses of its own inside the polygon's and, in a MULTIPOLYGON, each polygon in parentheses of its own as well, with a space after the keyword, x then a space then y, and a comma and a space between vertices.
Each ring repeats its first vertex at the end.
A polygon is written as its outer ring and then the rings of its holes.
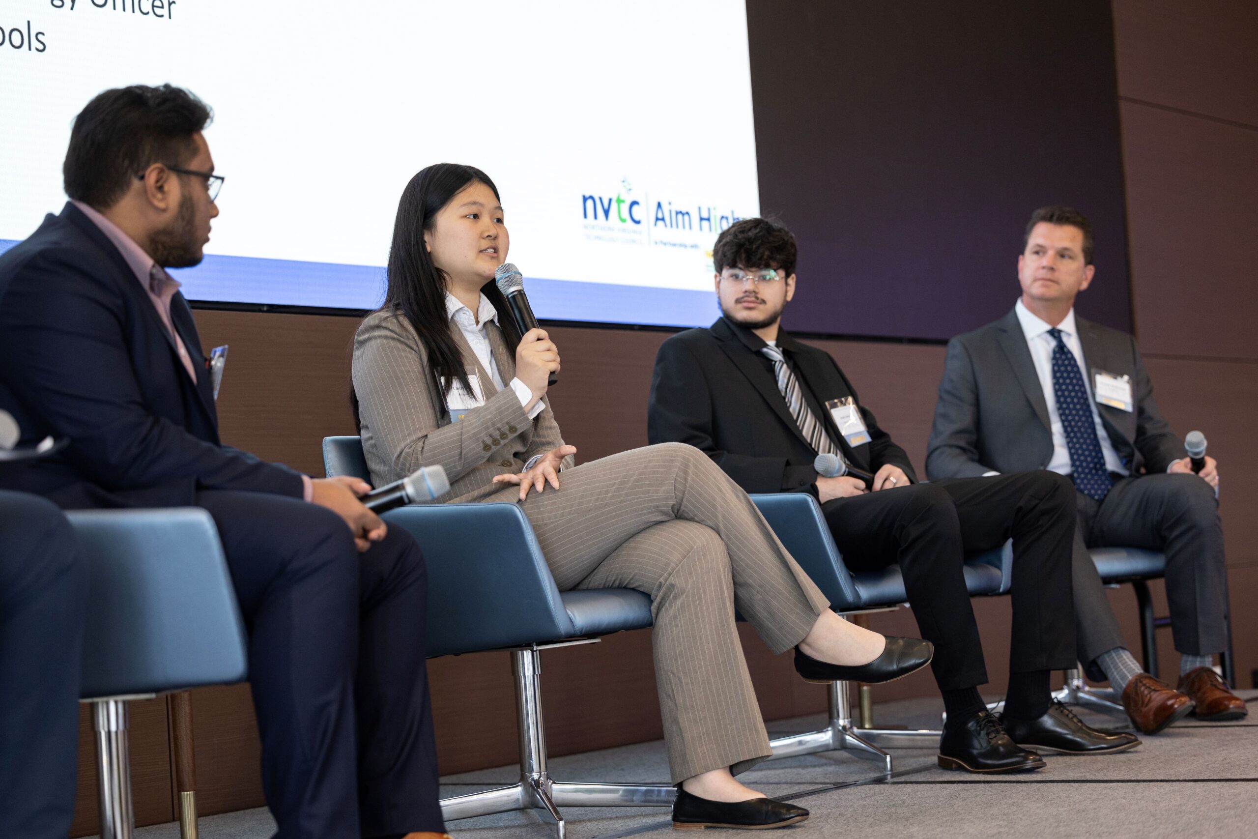
POLYGON ((208 509, 249 624, 278 835, 439 831, 419 548, 362 506, 362 481, 219 440, 196 326, 166 273, 201 260, 219 214, 209 122, 170 86, 106 91, 74 119, 70 201, 0 257, 0 408, 25 442, 70 444, 0 487, 64 508, 208 509))

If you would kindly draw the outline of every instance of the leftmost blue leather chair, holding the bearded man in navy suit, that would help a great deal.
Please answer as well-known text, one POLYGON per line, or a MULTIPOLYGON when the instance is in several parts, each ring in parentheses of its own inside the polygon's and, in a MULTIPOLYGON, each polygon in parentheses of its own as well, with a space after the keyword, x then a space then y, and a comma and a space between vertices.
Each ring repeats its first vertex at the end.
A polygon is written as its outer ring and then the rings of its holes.
MULTIPOLYGON (((204 509, 67 516, 91 569, 82 697, 92 704, 96 728, 101 836, 131 839, 127 702, 243 682, 244 621, 204 509)), ((181 810, 186 805, 181 801, 181 810)), ((195 805, 191 815, 195 835, 195 805)))

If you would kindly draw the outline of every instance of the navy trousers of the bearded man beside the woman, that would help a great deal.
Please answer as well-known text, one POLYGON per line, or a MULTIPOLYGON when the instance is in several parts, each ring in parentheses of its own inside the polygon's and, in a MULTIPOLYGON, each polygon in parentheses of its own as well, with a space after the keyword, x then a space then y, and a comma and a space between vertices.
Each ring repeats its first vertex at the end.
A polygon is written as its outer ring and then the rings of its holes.
POLYGON ((443 831, 424 664, 428 577, 401 528, 359 553, 333 512, 203 491, 249 629, 279 839, 443 831))

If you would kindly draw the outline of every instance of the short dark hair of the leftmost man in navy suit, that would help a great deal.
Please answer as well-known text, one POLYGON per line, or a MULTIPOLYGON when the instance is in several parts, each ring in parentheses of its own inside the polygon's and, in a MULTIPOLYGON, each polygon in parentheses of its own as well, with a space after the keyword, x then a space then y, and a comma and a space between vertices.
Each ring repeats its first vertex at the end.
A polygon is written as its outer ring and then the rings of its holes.
POLYGON ((98 93, 70 128, 62 176, 65 194, 107 209, 153 164, 180 166, 195 153, 192 135, 214 119, 210 107, 172 84, 132 84, 98 93))

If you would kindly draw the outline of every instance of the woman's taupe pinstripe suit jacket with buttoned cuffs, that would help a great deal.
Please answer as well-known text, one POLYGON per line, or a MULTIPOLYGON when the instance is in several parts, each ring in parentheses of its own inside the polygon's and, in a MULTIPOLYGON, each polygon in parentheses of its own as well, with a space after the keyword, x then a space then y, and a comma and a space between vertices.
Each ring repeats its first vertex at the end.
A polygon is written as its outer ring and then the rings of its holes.
MULTIPOLYGON (((535 454, 564 445, 550 403, 530 420, 511 387, 494 387, 458 327, 452 325, 450 332, 486 400, 458 423, 450 421, 428 366, 428 352, 405 317, 374 312, 359 327, 353 391, 371 481, 380 487, 420 467, 439 464, 450 479, 450 492, 440 502, 518 501, 518 487, 493 483, 493 477, 517 473, 535 454)), ((496 323, 489 325, 488 335, 498 372, 503 381, 511 381, 516 360, 507 341, 496 323)), ((567 457, 564 467, 570 465, 572 458, 567 457)))

